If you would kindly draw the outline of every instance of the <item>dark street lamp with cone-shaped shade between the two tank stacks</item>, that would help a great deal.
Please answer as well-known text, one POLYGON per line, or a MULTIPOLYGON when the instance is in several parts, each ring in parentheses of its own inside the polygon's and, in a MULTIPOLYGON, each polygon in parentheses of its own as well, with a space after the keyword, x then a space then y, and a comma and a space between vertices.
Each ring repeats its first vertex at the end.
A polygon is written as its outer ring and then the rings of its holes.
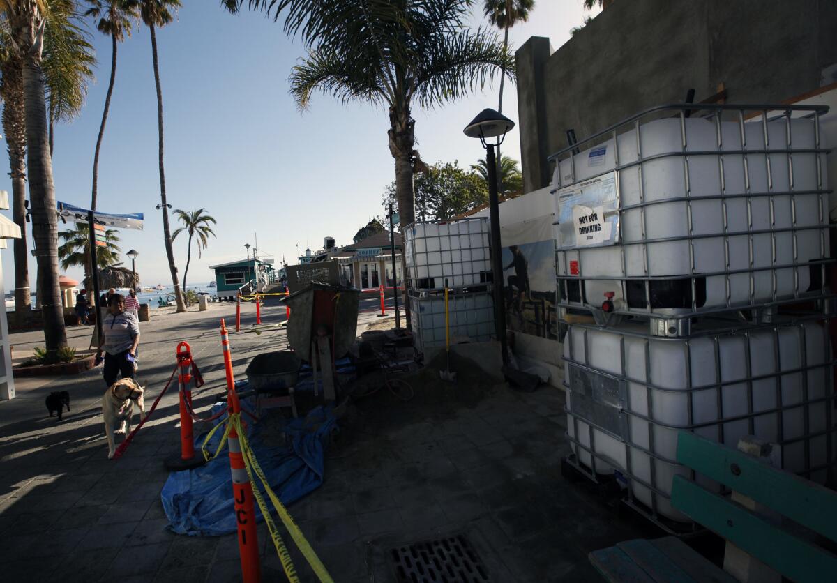
POLYGON ((503 143, 506 132, 515 126, 515 122, 495 110, 485 109, 465 127, 465 136, 479 138, 486 150, 485 166, 488 171, 488 204, 491 220, 491 270, 494 284, 494 324, 497 340, 500 340, 503 366, 508 365, 509 356, 506 347, 506 305, 503 302, 503 248, 500 243, 500 201, 497 194, 497 163, 494 144, 486 139, 498 138, 497 146, 503 143))

